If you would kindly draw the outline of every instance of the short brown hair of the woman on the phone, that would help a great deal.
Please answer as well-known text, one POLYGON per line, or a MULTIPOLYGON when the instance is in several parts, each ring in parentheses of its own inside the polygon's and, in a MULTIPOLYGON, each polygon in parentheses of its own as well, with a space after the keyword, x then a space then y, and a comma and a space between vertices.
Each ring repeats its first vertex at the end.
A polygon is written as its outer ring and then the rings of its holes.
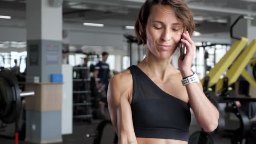
POLYGON ((139 45, 145 45, 147 43, 147 20, 152 7, 157 4, 171 6, 177 18, 181 20, 183 28, 189 32, 190 36, 192 36, 195 30, 195 23, 192 12, 186 3, 182 0, 146 0, 139 11, 139 16, 135 23, 135 35, 138 39, 139 45))

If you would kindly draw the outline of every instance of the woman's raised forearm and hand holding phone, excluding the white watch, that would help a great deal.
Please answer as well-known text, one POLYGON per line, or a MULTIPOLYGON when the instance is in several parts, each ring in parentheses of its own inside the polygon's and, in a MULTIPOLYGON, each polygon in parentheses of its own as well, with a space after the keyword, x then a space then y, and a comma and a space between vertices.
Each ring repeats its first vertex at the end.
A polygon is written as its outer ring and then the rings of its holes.
MULTIPOLYGON (((187 77, 193 75, 191 66, 195 55, 195 44, 187 31, 182 34, 182 37, 184 39, 181 39, 181 42, 186 45, 187 53, 184 60, 181 60, 181 56, 179 57, 179 69, 182 77, 187 77)), ((195 113, 198 124, 204 131, 214 131, 219 124, 219 111, 203 93, 202 84, 188 84, 186 90, 189 96, 189 104, 195 113)))

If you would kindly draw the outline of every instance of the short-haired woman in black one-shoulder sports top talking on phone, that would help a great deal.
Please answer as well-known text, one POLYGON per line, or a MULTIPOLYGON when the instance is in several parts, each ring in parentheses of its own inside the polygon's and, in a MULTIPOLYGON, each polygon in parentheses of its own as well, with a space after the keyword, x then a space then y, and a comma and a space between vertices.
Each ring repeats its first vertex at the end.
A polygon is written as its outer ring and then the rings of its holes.
POLYGON ((202 85, 198 80, 181 83, 193 75, 194 29, 191 11, 182 0, 146 0, 141 7, 135 32, 147 55, 109 82, 109 113, 118 144, 187 144, 190 107, 204 131, 217 128, 219 112, 202 85), (187 53, 184 60, 179 57, 177 70, 171 59, 179 43, 187 53))

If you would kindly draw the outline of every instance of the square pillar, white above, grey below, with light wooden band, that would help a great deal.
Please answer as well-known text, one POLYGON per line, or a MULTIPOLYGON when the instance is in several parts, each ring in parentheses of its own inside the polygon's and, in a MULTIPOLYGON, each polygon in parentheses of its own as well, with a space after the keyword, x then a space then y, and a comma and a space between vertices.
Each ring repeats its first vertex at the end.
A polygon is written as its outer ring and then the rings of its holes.
POLYGON ((26 140, 61 142, 62 0, 27 0, 27 85, 35 96, 26 98, 26 140), (39 77, 39 83, 33 83, 39 77), (32 80, 32 81, 31 81, 32 80))

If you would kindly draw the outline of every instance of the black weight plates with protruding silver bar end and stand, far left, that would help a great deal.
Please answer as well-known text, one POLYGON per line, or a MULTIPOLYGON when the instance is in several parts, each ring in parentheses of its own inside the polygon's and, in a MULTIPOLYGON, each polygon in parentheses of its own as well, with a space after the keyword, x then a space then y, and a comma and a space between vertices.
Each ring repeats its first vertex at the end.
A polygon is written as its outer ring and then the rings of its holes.
POLYGON ((0 71, 0 120, 15 123, 16 144, 18 143, 18 121, 21 114, 21 97, 34 96, 34 91, 20 92, 17 78, 11 70, 0 71))

